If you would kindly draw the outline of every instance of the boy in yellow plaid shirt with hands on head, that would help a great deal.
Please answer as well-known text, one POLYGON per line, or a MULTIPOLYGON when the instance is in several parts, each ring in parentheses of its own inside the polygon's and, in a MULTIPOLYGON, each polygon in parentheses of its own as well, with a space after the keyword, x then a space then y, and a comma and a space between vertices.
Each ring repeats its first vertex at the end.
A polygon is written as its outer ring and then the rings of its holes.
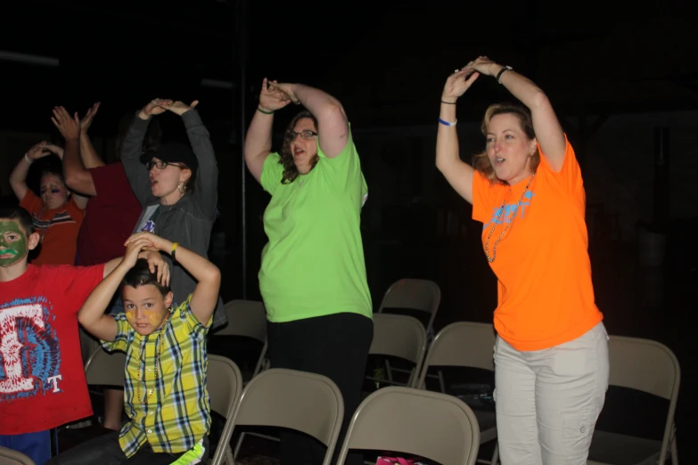
POLYGON ((129 421, 120 433, 77 445, 48 465, 205 463, 209 456, 206 335, 218 305, 220 271, 204 257, 151 232, 127 241, 123 260, 86 299, 80 323, 109 351, 126 352, 125 402, 129 421), (175 305, 141 250, 171 254, 197 281, 175 305), (121 291, 125 314, 105 314, 121 291))

